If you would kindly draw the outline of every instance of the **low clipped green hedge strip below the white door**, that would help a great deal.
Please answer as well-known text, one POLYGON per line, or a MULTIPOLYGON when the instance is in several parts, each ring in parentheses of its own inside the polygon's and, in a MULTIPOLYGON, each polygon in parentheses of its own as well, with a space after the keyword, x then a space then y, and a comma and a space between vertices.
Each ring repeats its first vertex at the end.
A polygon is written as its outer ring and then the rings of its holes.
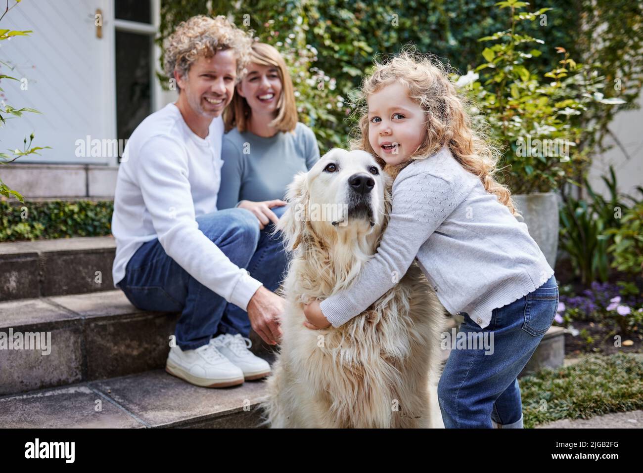
POLYGON ((0 242, 100 237, 111 233, 112 201, 0 201, 0 242))

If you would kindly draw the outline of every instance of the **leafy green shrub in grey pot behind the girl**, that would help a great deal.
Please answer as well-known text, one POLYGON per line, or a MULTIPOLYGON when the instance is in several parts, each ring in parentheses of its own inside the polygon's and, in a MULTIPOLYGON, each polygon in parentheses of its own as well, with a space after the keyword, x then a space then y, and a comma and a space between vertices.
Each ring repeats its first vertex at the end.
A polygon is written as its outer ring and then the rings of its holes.
POLYGON ((529 13, 521 11, 525 2, 497 5, 507 8, 510 28, 480 39, 490 42, 482 51, 485 62, 467 74, 469 80, 462 76, 458 82, 467 89, 478 127, 502 149, 500 163, 508 168, 505 183, 514 205, 554 267, 561 204, 556 190, 566 182, 576 184, 574 176, 588 162, 589 150, 579 147, 588 129, 575 116, 602 98, 597 93, 601 78, 564 48, 556 48, 563 57, 554 69, 543 77, 533 73, 544 41, 522 34, 521 22, 542 21, 552 8, 529 13))

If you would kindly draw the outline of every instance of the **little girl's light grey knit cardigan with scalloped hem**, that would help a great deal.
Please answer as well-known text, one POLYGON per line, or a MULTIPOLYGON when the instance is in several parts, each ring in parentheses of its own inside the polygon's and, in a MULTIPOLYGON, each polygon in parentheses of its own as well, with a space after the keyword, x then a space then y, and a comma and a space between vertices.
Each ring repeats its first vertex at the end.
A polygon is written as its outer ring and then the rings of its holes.
POLYGON ((335 327, 361 314, 401 280, 417 256, 446 310, 481 328, 494 308, 529 294, 554 274, 538 244, 449 148, 406 166, 377 253, 349 289, 321 302, 335 327))

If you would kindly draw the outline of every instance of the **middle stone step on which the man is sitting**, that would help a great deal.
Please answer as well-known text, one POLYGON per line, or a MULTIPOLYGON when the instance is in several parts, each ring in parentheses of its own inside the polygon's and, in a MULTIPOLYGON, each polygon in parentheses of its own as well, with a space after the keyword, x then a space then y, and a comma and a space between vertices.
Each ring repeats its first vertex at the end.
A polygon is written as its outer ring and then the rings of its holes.
MULTIPOLYGON (((30 339, 32 349, 0 349, 0 395, 165 368, 178 318, 139 310, 118 289, 2 302, 0 343, 30 339)), ((250 337, 270 361, 269 346, 250 337)))

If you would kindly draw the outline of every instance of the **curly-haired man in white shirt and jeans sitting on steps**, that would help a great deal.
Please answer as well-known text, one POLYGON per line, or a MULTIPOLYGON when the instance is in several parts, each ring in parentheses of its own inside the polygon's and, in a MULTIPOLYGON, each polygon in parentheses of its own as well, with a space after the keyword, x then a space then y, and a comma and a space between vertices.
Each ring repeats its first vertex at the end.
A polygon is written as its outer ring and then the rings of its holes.
MULTIPOLYGON (((136 307, 181 311, 166 370, 197 386, 266 376, 269 364, 245 337, 250 326, 269 344, 281 335, 283 299, 271 290, 287 261, 273 224, 260 230, 250 211, 216 206, 221 113, 250 46, 225 17, 181 23, 164 45, 179 98, 134 130, 118 170, 114 283, 136 307)), ((283 211, 274 209, 273 222, 283 211)))

